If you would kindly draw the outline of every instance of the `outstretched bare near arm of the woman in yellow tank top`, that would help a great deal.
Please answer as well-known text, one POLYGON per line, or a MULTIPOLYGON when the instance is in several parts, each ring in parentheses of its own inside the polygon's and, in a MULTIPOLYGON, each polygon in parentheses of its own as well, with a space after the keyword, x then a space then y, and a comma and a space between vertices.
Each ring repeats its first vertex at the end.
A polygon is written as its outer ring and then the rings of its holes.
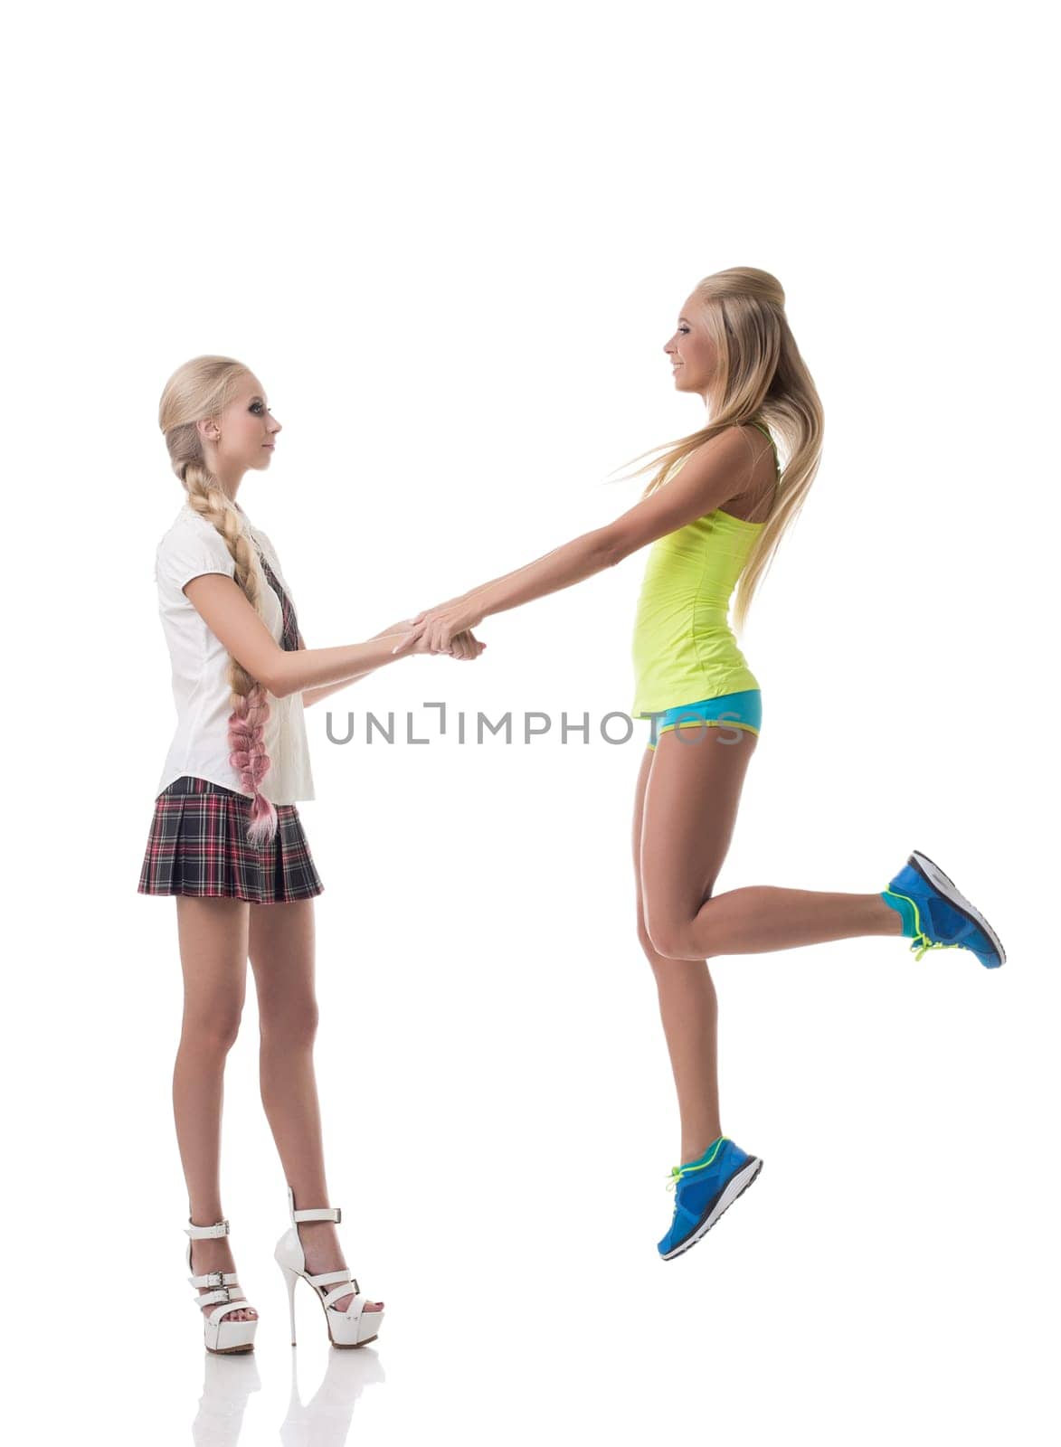
POLYGON ((624 557, 675 532, 695 518, 738 498, 751 479, 754 450, 740 427, 727 427, 698 447, 680 472, 614 522, 553 548, 525 567, 482 583, 413 619, 395 654, 427 640, 428 651, 444 651, 453 637, 475 628, 491 614, 520 608, 546 593, 580 583, 624 557))

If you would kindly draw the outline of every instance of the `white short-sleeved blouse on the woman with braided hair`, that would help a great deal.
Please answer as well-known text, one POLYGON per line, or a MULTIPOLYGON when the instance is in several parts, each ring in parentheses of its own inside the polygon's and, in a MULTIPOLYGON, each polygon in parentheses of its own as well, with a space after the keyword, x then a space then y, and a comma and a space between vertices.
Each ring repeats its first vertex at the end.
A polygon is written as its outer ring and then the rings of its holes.
MULTIPOLYGON (((294 608, 295 601, 281 572, 276 550, 261 528, 250 525, 250 519, 239 505, 237 511, 243 517, 248 535, 263 553, 294 608)), ((226 679, 229 651, 207 628, 182 592, 184 585, 201 573, 224 573, 226 577, 234 577, 236 564, 217 528, 185 504, 155 554, 158 611, 169 648, 177 705, 177 732, 166 754, 156 796, 175 778, 193 774, 252 799, 253 794, 243 789, 239 773, 229 763, 232 752, 229 744, 232 690, 226 679)), ((284 609, 265 574, 262 574, 261 596, 262 619, 279 642, 284 634, 284 609)), ((265 750, 271 767, 261 783, 261 792, 274 805, 314 799, 303 696, 289 693, 285 699, 278 699, 268 693, 268 702, 265 750)))

